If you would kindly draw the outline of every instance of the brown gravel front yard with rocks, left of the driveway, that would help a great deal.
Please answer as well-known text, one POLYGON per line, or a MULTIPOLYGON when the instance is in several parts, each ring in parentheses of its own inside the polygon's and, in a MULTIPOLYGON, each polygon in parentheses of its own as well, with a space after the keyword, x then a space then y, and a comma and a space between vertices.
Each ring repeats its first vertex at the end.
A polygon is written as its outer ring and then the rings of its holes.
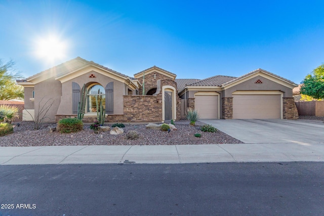
MULTIPOLYGON (((95 134, 90 125, 86 124, 84 130, 78 133, 61 134, 50 133, 48 126, 55 124, 43 124, 38 131, 33 130, 33 123, 22 121, 14 122, 14 133, 0 138, 0 146, 75 146, 75 145, 199 145, 199 144, 239 144, 242 143, 221 131, 217 133, 202 132, 196 122, 196 126, 190 126, 188 121, 176 121, 178 131, 162 132, 154 129, 146 129, 145 124, 126 124, 124 134, 110 135, 109 132, 95 134), (127 140, 125 134, 130 131, 138 132, 140 138, 127 140), (201 134, 201 138, 194 134, 201 134)), ((108 124, 108 126, 110 126, 108 124)))

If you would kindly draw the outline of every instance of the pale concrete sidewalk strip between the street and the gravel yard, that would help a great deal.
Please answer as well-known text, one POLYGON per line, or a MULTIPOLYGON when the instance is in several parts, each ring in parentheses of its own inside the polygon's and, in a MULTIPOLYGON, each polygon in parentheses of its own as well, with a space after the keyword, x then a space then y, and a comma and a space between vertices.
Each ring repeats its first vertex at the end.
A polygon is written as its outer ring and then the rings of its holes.
POLYGON ((0 164, 324 161, 324 143, 0 147, 0 164))

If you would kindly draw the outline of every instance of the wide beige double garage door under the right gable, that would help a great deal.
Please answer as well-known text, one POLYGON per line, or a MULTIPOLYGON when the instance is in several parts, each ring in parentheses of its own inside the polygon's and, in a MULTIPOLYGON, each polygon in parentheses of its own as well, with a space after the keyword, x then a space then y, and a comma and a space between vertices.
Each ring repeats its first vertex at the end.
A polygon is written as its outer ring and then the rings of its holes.
POLYGON ((233 118, 281 118, 281 95, 233 95, 233 118))

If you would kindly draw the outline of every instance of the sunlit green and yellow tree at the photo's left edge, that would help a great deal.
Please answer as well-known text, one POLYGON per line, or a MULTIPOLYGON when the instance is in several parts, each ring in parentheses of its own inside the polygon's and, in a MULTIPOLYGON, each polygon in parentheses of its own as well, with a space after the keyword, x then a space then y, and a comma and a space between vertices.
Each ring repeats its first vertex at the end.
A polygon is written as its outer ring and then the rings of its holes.
POLYGON ((14 71, 14 62, 4 63, 0 59, 0 100, 23 99, 24 88, 16 84, 16 78, 21 76, 14 71))

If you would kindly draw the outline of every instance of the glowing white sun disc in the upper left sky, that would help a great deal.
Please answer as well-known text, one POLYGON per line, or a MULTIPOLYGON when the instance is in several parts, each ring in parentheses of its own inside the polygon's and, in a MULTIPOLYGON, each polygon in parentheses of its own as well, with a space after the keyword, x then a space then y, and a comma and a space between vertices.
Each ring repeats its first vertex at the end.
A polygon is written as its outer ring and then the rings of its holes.
POLYGON ((63 59, 66 55, 66 42, 57 36, 50 35, 36 41, 36 55, 49 62, 63 59))

